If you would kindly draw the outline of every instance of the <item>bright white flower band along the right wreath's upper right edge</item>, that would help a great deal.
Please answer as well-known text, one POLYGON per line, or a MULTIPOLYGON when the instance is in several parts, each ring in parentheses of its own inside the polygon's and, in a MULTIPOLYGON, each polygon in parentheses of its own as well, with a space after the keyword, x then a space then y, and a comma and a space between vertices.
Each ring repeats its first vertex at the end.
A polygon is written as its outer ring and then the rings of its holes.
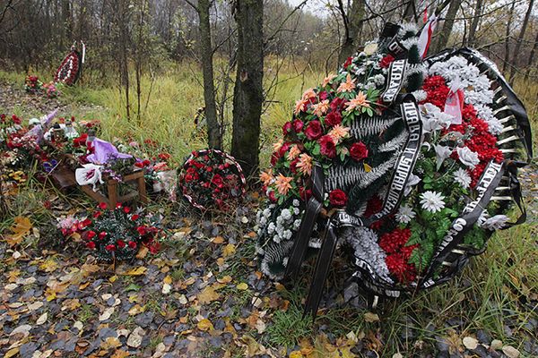
POLYGON ((454 56, 446 62, 438 62, 430 67, 430 74, 439 74, 447 79, 450 87, 454 81, 461 82, 464 88, 464 101, 473 105, 480 118, 488 125, 490 133, 497 135, 502 131, 502 124, 490 108, 493 102, 491 81, 474 64, 470 64, 464 57, 454 56))

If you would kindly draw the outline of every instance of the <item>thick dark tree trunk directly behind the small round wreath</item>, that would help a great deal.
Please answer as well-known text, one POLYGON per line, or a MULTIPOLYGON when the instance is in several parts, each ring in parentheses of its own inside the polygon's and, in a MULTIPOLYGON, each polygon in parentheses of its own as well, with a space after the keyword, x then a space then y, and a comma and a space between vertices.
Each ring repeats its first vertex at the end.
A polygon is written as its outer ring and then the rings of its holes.
POLYGON ((246 175, 258 170, 260 116, 264 102, 264 3, 236 0, 238 25, 238 72, 233 98, 231 155, 239 160, 246 175))

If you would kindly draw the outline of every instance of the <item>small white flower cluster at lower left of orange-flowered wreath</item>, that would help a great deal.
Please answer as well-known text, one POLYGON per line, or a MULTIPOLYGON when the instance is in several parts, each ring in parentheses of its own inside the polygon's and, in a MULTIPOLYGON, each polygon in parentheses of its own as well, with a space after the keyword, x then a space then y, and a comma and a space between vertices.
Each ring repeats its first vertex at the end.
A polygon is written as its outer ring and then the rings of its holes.
POLYGON ((302 212, 299 209, 299 200, 293 200, 289 208, 282 209, 279 215, 273 219, 275 207, 274 204, 271 204, 264 210, 258 210, 256 215, 257 234, 261 236, 265 232, 275 243, 291 240, 291 236, 299 230, 300 226, 302 212))

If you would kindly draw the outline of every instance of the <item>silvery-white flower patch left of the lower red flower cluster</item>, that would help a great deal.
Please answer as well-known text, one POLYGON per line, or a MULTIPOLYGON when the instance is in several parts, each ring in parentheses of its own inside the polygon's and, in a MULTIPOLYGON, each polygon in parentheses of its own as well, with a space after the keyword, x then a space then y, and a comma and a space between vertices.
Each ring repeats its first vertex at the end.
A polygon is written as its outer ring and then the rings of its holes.
POLYGON ((386 282, 393 284, 386 267, 386 253, 377 244, 377 234, 368 227, 348 227, 342 233, 343 243, 351 246, 357 265, 367 262, 370 268, 386 282))

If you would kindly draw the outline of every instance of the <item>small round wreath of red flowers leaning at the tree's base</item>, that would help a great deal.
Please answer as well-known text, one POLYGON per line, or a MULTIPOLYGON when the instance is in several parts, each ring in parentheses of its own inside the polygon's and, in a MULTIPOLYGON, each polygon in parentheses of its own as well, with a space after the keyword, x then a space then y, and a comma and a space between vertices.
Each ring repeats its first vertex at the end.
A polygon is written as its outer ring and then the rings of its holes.
POLYGON ((247 182, 235 158, 217 149, 193 151, 182 166, 178 185, 197 209, 226 210, 245 193, 247 182))

